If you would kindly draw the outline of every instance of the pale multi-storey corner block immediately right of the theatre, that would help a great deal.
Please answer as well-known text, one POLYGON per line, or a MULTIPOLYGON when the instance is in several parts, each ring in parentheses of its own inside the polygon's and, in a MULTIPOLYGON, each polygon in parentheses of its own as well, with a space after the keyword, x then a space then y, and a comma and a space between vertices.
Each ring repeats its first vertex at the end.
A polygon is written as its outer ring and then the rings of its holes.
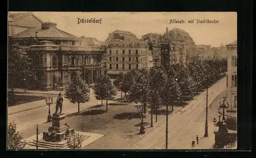
POLYGON ((131 69, 153 66, 152 54, 148 45, 125 31, 116 30, 106 40, 106 70, 113 77, 131 69))

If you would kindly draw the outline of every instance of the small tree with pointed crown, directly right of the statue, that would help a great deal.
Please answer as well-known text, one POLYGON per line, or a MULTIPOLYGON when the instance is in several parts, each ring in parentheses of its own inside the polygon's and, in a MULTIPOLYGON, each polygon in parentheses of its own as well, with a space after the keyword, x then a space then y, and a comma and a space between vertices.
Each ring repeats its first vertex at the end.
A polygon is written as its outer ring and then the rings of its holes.
POLYGON ((72 103, 78 103, 78 113, 80 112, 80 103, 90 100, 89 88, 76 72, 71 74, 71 84, 65 90, 65 98, 72 103))

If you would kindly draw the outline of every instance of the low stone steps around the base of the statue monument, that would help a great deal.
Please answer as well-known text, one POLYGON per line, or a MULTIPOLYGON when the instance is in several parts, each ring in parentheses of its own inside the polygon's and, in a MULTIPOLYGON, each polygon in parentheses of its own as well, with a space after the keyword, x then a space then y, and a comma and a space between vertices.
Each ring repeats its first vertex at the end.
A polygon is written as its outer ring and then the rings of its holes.
MULTIPOLYGON (((82 141, 88 139, 90 136, 82 136, 82 141)), ((33 140, 28 143, 31 146, 36 147, 36 140, 33 140)), ((44 140, 38 141, 38 147, 45 148, 45 149, 67 149, 69 148, 67 140, 62 142, 47 142, 44 140)))

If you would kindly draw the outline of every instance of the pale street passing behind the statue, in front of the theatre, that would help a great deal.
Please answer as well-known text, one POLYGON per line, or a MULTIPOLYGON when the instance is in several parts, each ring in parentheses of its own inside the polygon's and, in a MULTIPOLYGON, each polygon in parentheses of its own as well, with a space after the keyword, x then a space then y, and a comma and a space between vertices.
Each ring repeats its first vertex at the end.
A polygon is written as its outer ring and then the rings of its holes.
MULTIPOLYGON (((118 92, 116 98, 120 98, 121 92, 118 92)), ((56 98, 54 98, 56 100, 56 98)), ((55 101, 54 100, 54 101, 55 101)), ((45 104, 45 100, 42 100, 45 104)), ((108 100, 108 103, 111 103, 111 100, 108 100)), ((103 100, 105 103, 105 100, 103 100)), ((96 100, 94 94, 90 95, 90 101, 86 103, 80 103, 80 111, 86 110, 87 108, 96 106, 97 104, 101 104, 101 100, 96 100)), ((68 99, 64 98, 63 101, 63 113, 66 115, 76 113, 77 103, 71 103, 68 99)), ((13 107, 12 107, 13 108, 13 107)), ((31 126, 36 124, 41 124, 47 122, 49 107, 44 106, 20 113, 15 113, 12 115, 8 115, 8 122, 14 121, 17 124, 17 131, 25 130, 31 126)), ((55 112, 55 104, 50 106, 51 115, 55 112)))

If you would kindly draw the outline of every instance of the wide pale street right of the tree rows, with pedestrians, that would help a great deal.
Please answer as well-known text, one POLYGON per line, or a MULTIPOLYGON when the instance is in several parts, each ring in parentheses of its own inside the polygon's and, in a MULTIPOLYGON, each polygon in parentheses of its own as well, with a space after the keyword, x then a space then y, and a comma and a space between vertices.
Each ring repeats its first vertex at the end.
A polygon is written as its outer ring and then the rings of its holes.
MULTIPOLYGON (((226 89, 226 80, 223 78, 217 84, 208 89, 208 105, 226 89)), ((223 96, 222 96, 223 97, 223 96)), ((218 108, 220 100, 215 100, 212 107, 208 107, 208 134, 207 139, 212 144, 206 144, 204 148, 209 149, 214 143, 213 123, 214 117, 218 119, 218 108)), ((174 114, 168 119, 168 149, 191 149, 191 141, 196 135, 204 139, 205 127, 206 92, 203 92, 197 99, 191 101, 181 112, 174 114)), ((162 123, 151 133, 146 134, 142 139, 131 145, 130 149, 165 149, 166 124, 162 123)))

